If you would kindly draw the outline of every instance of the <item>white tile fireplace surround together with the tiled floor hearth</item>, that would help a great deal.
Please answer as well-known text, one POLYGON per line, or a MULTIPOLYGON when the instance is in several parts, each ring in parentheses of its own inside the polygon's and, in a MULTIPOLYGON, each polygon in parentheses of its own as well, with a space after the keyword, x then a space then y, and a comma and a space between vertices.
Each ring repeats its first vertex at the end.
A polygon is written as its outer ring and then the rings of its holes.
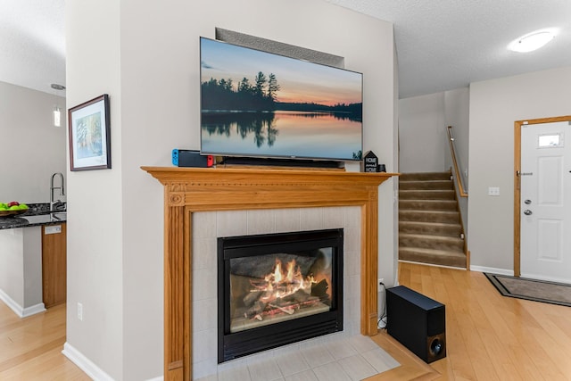
POLYGON ((193 213, 193 379, 351 380, 398 366, 360 335, 360 223, 352 206, 193 213), (325 228, 344 232, 343 332, 218 364, 217 238, 325 228), (295 374, 285 370, 296 359, 295 374))

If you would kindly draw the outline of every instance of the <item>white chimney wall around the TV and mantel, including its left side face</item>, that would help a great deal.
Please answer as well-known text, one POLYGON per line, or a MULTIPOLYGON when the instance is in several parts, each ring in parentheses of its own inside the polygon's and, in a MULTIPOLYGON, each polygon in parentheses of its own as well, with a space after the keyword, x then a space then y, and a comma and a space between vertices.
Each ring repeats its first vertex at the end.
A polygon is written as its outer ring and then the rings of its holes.
MULTIPOLYGON (((113 166, 69 178, 68 343, 115 379, 157 377, 163 196, 139 167, 170 166, 172 148, 199 148, 198 37, 219 27, 345 57, 364 74, 364 151, 393 171, 393 26, 321 0, 66 5, 68 103, 110 95, 113 166)), ((379 190, 379 253, 389 258, 392 188, 389 180, 379 190)), ((391 285, 389 262, 380 276, 391 285)))

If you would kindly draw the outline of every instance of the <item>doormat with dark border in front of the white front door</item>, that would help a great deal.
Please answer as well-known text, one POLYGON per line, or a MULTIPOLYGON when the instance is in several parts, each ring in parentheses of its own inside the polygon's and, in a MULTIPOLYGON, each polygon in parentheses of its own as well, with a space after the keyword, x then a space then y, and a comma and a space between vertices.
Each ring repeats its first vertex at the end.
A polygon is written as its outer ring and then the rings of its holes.
POLYGON ((571 285, 484 272, 503 296, 571 307, 571 285))

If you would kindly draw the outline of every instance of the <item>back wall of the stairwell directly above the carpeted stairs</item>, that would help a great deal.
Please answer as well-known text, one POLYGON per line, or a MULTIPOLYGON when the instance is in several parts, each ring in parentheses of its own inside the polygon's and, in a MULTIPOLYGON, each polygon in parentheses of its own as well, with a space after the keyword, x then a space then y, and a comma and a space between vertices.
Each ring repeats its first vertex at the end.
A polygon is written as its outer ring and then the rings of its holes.
POLYGON ((447 152, 444 93, 399 101, 399 167, 407 172, 442 172, 447 152))

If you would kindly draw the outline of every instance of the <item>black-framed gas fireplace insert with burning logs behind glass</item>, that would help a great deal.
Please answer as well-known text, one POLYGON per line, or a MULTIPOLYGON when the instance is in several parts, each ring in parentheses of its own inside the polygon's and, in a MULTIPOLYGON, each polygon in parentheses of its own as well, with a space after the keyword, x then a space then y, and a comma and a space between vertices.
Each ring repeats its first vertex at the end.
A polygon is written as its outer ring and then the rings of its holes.
POLYGON ((219 238, 219 362, 343 329, 343 229, 219 238))

